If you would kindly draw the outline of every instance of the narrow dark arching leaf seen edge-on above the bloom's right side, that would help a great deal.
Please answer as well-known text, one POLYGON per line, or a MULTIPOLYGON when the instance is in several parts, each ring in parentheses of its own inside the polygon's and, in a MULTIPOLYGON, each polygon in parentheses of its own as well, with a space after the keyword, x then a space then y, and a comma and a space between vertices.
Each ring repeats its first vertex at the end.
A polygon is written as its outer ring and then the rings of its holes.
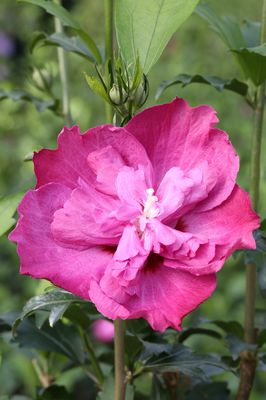
POLYGON ((203 76, 203 75, 187 75, 179 74, 173 79, 163 81, 156 92, 156 100, 162 95, 162 93, 171 86, 181 84, 182 87, 190 85, 191 83, 204 83, 211 85, 214 89, 221 92, 222 90, 231 90, 241 96, 246 96, 248 92, 248 86, 239 81, 238 79, 222 79, 218 76, 203 76))

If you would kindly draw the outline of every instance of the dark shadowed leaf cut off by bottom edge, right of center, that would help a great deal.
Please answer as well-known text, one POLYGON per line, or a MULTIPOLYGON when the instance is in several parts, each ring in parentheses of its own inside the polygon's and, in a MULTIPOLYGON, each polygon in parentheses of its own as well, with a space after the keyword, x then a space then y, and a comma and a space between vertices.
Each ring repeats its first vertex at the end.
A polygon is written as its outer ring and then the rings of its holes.
POLYGON ((229 400, 230 390, 226 382, 201 383, 186 395, 186 400, 229 400))

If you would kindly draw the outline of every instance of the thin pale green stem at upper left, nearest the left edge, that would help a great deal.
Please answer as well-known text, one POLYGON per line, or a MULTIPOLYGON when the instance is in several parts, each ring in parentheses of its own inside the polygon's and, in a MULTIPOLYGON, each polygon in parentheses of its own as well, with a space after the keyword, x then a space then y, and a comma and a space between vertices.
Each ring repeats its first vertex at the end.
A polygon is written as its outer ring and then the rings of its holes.
MULTIPOLYGON (((61 4, 60 0, 54 0, 55 3, 61 4)), ((55 18, 55 31, 57 33, 63 32, 63 26, 61 21, 58 18, 55 18)), ((61 47, 57 49, 58 55, 58 64, 59 64, 59 74, 62 86, 62 103, 63 103, 63 116, 66 125, 72 125, 72 117, 70 112, 70 103, 69 103, 69 89, 68 89, 68 74, 67 74, 67 63, 65 52, 61 47)))

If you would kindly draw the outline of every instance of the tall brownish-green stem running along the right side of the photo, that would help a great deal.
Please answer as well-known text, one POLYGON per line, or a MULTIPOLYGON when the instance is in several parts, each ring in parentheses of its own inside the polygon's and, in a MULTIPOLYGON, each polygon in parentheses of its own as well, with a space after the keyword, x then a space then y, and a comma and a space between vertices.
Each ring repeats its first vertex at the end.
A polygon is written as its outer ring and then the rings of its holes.
MULTIPOLYGON (((263 0, 260 43, 266 41, 266 0, 263 0)), ((250 196, 255 210, 259 207, 261 141, 263 131, 263 114, 265 106, 265 82, 258 88, 257 102, 254 111, 254 134, 252 136, 250 160, 250 196)), ((244 339, 248 344, 256 343, 255 300, 257 271, 255 264, 246 265, 246 297, 244 339)), ((256 372, 256 354, 243 351, 240 361, 240 384, 237 400, 248 400, 256 372)))

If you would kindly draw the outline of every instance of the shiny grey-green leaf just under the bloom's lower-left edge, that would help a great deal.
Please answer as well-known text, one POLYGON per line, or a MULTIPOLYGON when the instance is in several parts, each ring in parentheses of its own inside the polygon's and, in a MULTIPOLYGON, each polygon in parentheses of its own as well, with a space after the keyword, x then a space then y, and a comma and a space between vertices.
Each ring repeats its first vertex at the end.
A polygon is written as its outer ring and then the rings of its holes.
POLYGON ((66 292, 62 289, 54 289, 39 296, 32 297, 23 307, 23 310, 15 321, 13 331, 16 331, 17 326, 24 318, 27 318, 35 311, 49 311, 49 323, 53 326, 65 313, 67 308, 74 303, 85 303, 86 301, 66 292))

